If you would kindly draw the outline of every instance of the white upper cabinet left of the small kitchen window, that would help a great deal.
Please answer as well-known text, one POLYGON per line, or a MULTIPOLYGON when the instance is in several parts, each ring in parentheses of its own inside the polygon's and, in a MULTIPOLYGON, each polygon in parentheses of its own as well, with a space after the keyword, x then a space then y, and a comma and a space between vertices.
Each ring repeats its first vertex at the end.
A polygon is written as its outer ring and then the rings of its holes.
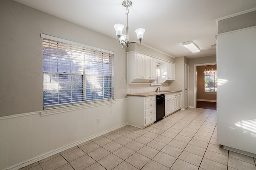
POLYGON ((137 52, 127 53, 127 83, 151 83, 156 79, 156 59, 137 52))

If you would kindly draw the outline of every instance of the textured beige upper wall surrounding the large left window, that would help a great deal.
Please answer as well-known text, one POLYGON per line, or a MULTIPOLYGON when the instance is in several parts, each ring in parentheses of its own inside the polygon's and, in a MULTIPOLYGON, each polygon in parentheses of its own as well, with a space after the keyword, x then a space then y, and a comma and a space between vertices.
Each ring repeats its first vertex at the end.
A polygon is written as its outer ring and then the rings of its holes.
POLYGON ((114 51, 114 97, 126 98, 126 51, 116 39, 12 0, 0 12, 0 116, 43 109, 41 33, 114 51))

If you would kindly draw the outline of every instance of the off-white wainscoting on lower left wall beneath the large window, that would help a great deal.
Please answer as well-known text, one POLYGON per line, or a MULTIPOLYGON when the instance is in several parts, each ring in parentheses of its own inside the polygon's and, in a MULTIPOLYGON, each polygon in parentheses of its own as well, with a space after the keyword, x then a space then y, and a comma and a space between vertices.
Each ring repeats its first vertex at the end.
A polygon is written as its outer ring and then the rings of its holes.
POLYGON ((0 117, 0 170, 17 170, 124 125, 126 98, 43 116, 0 117))

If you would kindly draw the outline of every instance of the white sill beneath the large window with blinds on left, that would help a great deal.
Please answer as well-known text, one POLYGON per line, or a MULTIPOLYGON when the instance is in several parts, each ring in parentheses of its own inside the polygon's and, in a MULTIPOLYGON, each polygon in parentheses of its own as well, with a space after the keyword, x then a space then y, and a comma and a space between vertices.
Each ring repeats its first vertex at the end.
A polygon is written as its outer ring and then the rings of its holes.
POLYGON ((109 105, 109 104, 115 104, 115 100, 108 100, 104 102, 93 102, 90 104, 79 104, 76 106, 66 106, 66 107, 58 107, 58 108, 52 108, 52 109, 47 109, 40 111, 41 116, 47 116, 47 115, 54 115, 58 113, 63 113, 63 112, 68 112, 68 111, 75 111, 75 110, 80 110, 80 109, 86 109, 89 107, 97 107, 97 106, 103 106, 103 105, 109 105))

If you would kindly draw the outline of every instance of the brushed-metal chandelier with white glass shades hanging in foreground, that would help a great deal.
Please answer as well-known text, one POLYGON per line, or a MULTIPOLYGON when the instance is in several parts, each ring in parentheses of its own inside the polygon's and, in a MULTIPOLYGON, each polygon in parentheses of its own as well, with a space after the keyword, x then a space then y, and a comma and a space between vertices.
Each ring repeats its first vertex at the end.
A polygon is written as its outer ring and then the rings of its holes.
POLYGON ((124 49, 124 45, 126 47, 128 47, 128 45, 130 43, 136 43, 137 45, 140 45, 141 44, 141 40, 143 39, 143 34, 145 32, 145 29, 143 28, 138 28, 135 30, 136 34, 137 34, 137 38, 138 38, 138 41, 140 41, 139 43, 137 42, 131 42, 129 40, 129 27, 128 27, 128 14, 129 14, 129 10, 128 10, 128 7, 132 6, 132 1, 130 0, 124 0, 122 2, 122 6, 126 7, 126 35, 125 34, 122 34, 123 32, 123 29, 124 29, 124 25, 121 24, 121 23, 116 23, 114 25, 114 28, 116 30, 116 36, 118 37, 118 40, 119 40, 119 43, 122 45, 122 49, 124 49))

